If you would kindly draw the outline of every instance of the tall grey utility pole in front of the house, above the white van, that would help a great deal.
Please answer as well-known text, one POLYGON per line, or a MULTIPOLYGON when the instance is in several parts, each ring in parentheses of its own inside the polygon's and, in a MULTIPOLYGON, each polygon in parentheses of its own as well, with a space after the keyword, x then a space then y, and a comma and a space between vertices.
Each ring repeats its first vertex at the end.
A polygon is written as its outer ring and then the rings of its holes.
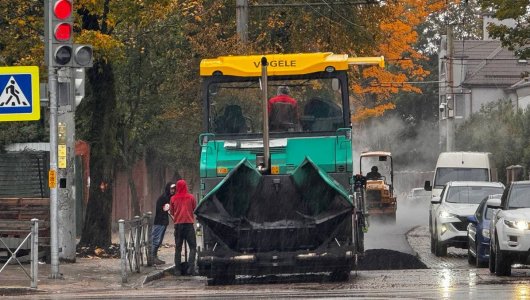
POLYGON ((447 142, 446 142, 446 151, 454 150, 454 93, 453 93, 453 57, 454 57, 454 47, 453 47, 453 26, 447 24, 447 87, 445 93, 445 101, 447 103, 447 118, 445 119, 447 126, 447 142))

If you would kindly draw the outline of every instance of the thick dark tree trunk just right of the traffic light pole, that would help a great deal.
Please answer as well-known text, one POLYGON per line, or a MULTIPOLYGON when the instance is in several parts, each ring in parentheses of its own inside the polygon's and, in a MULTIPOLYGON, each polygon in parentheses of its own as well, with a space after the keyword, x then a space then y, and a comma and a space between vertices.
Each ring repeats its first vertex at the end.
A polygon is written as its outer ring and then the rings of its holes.
POLYGON ((106 247, 111 244, 112 184, 116 149, 116 95, 112 66, 96 61, 87 70, 91 94, 86 105, 92 114, 88 133, 90 151, 90 193, 81 245, 106 247))

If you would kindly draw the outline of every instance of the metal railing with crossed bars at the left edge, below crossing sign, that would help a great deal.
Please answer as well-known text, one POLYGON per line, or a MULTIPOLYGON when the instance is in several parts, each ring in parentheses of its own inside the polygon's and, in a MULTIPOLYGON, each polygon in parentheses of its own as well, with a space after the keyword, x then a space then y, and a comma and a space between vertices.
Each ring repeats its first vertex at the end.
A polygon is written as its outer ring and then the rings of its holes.
MULTIPOLYGON (((31 280, 31 288, 36 289, 37 288, 37 282, 38 282, 38 276, 39 276, 39 220, 38 219, 31 219, 31 229, 28 235, 24 238, 24 240, 18 245, 15 252, 11 251, 10 247, 4 242, 2 237, 0 237, 0 243, 7 249, 9 254, 11 255, 9 259, 4 263, 2 268, 0 269, 0 273, 6 268, 9 263, 14 260, 18 263, 22 271, 24 271, 24 274, 31 280), (28 271, 22 266, 20 261, 17 258, 18 251, 22 248, 24 244, 26 244, 26 241, 28 239, 31 239, 31 263, 30 263, 30 273, 28 274, 28 271)), ((6 229, 6 230, 0 230, 0 232, 6 231, 6 232, 27 232, 28 230, 21 230, 21 229, 6 229)))

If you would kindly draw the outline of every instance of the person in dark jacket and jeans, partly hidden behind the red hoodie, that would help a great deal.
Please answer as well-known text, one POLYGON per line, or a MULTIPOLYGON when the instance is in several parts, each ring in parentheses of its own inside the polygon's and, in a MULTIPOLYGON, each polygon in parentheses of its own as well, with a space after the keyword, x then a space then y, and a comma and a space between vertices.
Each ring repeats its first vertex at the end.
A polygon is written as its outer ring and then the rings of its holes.
POLYGON ((158 248, 162 245, 166 228, 169 224, 168 213, 171 196, 175 193, 175 184, 168 182, 164 188, 164 193, 158 197, 155 205, 155 220, 153 222, 153 246, 151 253, 155 265, 163 265, 166 262, 158 258, 158 248))

